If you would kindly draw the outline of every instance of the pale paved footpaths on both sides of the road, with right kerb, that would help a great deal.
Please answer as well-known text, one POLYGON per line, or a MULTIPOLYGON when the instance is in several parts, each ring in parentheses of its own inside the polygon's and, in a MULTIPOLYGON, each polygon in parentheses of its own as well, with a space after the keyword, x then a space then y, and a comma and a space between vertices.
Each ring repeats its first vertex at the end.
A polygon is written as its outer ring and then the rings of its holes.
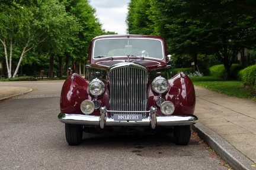
MULTIPOLYGON (((195 90, 199 120, 193 130, 233 169, 256 170, 256 101, 197 86, 195 90)), ((30 91, 27 87, 2 86, 0 102, 30 91)))

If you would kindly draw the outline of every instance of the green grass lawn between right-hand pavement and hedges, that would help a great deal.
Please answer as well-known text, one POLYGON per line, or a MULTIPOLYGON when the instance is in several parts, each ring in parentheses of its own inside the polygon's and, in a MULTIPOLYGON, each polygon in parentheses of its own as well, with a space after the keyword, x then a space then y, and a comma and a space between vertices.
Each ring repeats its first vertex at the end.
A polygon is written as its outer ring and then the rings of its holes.
POLYGON ((232 80, 226 81, 219 77, 204 76, 204 77, 190 77, 195 86, 204 87, 209 90, 228 94, 246 99, 256 99, 248 90, 245 90, 242 81, 232 80))

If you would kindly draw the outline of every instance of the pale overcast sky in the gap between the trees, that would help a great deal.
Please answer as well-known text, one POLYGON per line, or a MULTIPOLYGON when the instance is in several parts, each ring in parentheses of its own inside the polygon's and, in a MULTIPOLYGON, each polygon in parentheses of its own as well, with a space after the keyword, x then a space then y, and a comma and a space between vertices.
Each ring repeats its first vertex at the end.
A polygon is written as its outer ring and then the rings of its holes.
POLYGON ((130 0, 90 0, 91 6, 96 9, 97 18, 105 31, 114 31, 126 34, 127 6, 130 0))

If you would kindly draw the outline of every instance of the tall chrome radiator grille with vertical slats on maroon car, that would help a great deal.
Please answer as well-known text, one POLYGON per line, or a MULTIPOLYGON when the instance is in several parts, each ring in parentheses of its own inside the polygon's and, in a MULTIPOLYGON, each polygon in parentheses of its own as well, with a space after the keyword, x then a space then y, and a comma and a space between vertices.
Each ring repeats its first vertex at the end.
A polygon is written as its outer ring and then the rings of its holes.
POLYGON ((119 63, 110 68, 109 77, 110 117, 116 113, 142 114, 146 117, 148 69, 131 62, 119 63))

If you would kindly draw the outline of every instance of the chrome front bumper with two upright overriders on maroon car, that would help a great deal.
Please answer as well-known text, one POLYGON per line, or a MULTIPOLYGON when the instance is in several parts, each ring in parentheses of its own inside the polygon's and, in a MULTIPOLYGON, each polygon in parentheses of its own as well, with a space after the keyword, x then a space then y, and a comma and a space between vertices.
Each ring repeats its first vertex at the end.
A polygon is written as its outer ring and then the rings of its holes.
POLYGON ((101 116, 88 116, 59 113, 58 118, 60 122, 78 125, 94 125, 100 126, 104 129, 105 126, 151 126, 155 129, 156 126, 181 126, 195 124, 197 117, 189 116, 156 116, 156 107, 151 107, 149 116, 142 119, 142 121, 114 121, 114 119, 107 117, 107 109, 101 107, 101 116))

